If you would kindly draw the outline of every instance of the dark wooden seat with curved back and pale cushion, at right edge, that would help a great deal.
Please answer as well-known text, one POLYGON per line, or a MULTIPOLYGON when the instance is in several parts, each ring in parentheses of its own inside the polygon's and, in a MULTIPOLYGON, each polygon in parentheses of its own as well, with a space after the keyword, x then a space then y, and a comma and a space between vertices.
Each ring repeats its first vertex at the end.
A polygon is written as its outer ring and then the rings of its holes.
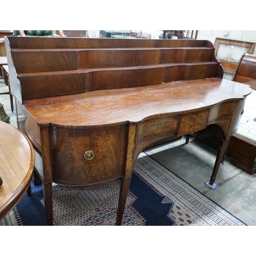
MULTIPOLYGON (((231 136, 227 155, 230 163, 249 174, 256 172, 256 56, 244 54, 240 58, 232 81, 241 82, 251 86, 252 93, 247 97, 244 114, 241 118, 237 133, 231 136), (253 120, 255 119, 255 120, 253 120)), ((222 145, 222 141, 216 137, 220 131, 217 126, 208 126, 206 129, 191 135, 198 139, 215 145, 222 145)), ((189 139, 187 136, 187 143, 189 139)), ((226 155, 225 154, 225 155, 226 155)), ((225 157, 224 155, 224 157, 225 157)), ((224 159, 222 160, 222 162, 224 159)))

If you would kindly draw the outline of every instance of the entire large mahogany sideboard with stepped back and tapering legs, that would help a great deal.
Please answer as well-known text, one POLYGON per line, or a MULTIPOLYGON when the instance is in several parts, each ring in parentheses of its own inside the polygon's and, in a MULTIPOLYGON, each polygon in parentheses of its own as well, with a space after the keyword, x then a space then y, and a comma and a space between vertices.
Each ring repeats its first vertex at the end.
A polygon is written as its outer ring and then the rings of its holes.
POLYGON ((222 78, 211 42, 7 37, 6 47, 17 125, 35 148, 48 225, 52 182, 77 186, 121 178, 120 225, 141 151, 211 124, 220 126, 223 139, 208 182, 216 187, 251 89, 222 78))

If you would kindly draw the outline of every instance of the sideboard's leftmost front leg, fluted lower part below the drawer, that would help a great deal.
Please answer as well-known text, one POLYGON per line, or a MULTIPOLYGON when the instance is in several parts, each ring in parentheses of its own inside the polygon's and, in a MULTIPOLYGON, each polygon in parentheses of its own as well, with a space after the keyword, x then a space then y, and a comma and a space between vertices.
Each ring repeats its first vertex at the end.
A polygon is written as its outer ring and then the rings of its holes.
POLYGON ((46 208, 46 221, 48 226, 53 226, 53 211, 52 211, 52 182, 42 184, 44 190, 44 201, 46 208))

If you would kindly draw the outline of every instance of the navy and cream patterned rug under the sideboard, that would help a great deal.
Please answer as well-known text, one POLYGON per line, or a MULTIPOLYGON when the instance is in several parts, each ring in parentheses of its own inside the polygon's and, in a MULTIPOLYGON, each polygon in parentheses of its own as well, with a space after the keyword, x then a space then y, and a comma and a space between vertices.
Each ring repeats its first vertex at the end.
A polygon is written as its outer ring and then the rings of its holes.
MULTIPOLYGON (((34 188, 32 188, 32 197, 25 195, 0 225, 46 225, 42 191, 34 193, 34 188), (39 193, 39 200, 36 199, 36 193, 39 193)), ((54 184, 54 225, 115 225, 119 188, 119 180, 83 187, 54 184)), ((41 190, 41 186, 37 190, 41 190)), ((245 226, 246 224, 150 156, 141 153, 135 164, 122 225, 245 226)))

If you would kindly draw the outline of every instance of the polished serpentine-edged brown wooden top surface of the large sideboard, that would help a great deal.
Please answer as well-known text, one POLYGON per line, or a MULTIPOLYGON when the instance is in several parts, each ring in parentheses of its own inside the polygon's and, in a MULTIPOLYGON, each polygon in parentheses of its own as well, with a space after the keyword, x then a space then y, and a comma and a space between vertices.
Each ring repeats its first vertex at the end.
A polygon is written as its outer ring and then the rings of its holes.
POLYGON ((250 93, 249 86, 207 78, 43 98, 24 101, 24 105, 39 126, 54 123, 73 128, 202 111, 227 100, 243 99, 250 93))

